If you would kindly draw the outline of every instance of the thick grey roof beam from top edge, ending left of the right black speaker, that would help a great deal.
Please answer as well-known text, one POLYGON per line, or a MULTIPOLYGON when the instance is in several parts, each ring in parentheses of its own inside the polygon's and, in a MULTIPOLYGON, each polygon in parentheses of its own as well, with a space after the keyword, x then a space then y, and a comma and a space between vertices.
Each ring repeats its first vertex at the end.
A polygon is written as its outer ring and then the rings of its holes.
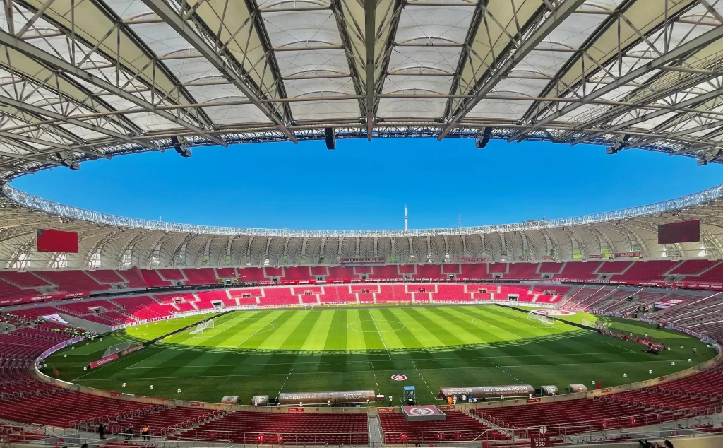
POLYGON ((552 33, 552 31, 555 30, 560 23, 567 19, 570 14, 575 12, 576 9, 578 9, 578 7, 580 7, 583 3, 585 3, 585 0, 566 0, 559 7, 550 12, 549 16, 529 35, 528 38, 525 39, 525 41, 521 43, 518 48, 515 49, 515 51, 511 54, 504 54, 503 57, 507 58, 505 61, 495 61, 492 63, 491 65, 493 68, 499 68, 492 69, 489 74, 489 78, 484 82, 484 84, 479 86, 476 92, 474 92, 474 98, 471 98, 469 101, 463 103, 463 106, 455 112, 447 127, 440 132, 437 140, 445 138, 450 130, 453 130, 460 120, 469 114, 469 111, 474 109, 474 106, 476 106, 479 101, 482 101, 484 96, 495 88, 495 85, 497 85, 497 83, 499 83, 505 75, 514 69, 515 66, 517 66, 517 64, 524 59, 530 51, 534 50, 534 48, 542 42, 549 33, 552 33))

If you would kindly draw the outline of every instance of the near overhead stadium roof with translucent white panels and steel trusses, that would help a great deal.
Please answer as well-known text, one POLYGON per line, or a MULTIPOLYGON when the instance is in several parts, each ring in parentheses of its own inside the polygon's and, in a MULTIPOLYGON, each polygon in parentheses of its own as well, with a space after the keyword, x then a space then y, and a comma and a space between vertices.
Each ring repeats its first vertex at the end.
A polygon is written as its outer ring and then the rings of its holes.
POLYGON ((325 128, 721 161, 720 0, 4 4, 0 180, 325 128))

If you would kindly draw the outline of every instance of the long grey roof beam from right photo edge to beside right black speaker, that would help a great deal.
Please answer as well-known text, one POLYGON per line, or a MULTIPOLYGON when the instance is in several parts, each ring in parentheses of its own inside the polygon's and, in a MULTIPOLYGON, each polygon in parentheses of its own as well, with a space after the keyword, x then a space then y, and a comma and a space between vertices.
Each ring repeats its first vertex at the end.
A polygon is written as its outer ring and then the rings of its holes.
POLYGON ((712 42, 715 42, 719 40, 720 38, 723 38, 723 26, 722 27, 716 27, 712 30, 707 31, 706 33, 703 33, 699 35, 696 38, 691 39, 690 41, 681 44, 677 48, 674 48, 667 53, 664 53, 655 59, 651 60, 650 62, 642 65, 641 67, 638 67, 637 69, 634 69, 630 72, 628 72, 626 75, 623 75, 617 80, 612 81, 611 83, 608 83, 606 85, 603 85, 601 88, 594 90, 593 92, 587 94, 586 96, 583 96, 582 101, 580 103, 572 103, 568 104, 568 106, 563 107, 559 111, 549 114, 547 117, 544 117, 543 119, 539 120, 539 122, 536 122, 534 124, 531 124, 529 127, 526 127, 526 129, 515 132, 515 134, 508 139, 508 141, 518 140, 520 138, 523 138, 524 135, 526 135, 528 132, 532 132, 536 129, 539 129, 540 127, 543 127, 545 124, 552 122, 553 120, 560 118, 564 115, 569 114, 571 111, 578 109, 578 107, 582 106, 583 104, 589 103, 590 101, 599 98, 606 93, 610 93, 612 90, 615 90, 616 88, 626 85, 627 83, 630 83, 633 80, 636 80, 638 77, 641 77, 643 75, 646 75, 650 73, 652 70, 659 69, 660 67, 670 64, 671 62, 674 62, 677 59, 680 59, 682 57, 688 57, 691 53, 697 51, 698 49, 709 45, 712 42))

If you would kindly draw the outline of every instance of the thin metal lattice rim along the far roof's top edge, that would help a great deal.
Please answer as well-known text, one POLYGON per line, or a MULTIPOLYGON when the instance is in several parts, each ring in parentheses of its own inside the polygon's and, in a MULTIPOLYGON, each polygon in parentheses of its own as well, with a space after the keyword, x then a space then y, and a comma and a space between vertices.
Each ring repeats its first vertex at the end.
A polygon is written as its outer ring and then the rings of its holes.
POLYGON ((10 185, 3 185, 1 193, 17 205, 43 211, 56 216, 69 219, 80 219, 93 224, 116 226, 130 229, 147 229, 160 232, 181 232, 195 234, 223 234, 223 235, 249 235, 262 237, 414 237, 432 235, 458 235, 458 234, 489 234, 500 232, 523 232, 526 230, 550 229, 554 227, 570 227, 581 224, 596 224, 600 222, 620 221, 622 219, 649 216, 682 208, 700 206, 723 198, 723 185, 693 193, 680 198, 664 200, 659 203, 648 204, 615 211, 606 211, 598 214, 573 216, 560 219, 542 219, 525 221, 516 224, 495 224, 479 227, 448 227, 440 229, 410 229, 410 230, 296 230, 296 229, 260 229, 253 227, 226 227, 203 226, 197 224, 179 224, 174 222, 154 221, 152 219, 129 218, 98 211, 85 210, 65 204, 43 199, 10 185))

